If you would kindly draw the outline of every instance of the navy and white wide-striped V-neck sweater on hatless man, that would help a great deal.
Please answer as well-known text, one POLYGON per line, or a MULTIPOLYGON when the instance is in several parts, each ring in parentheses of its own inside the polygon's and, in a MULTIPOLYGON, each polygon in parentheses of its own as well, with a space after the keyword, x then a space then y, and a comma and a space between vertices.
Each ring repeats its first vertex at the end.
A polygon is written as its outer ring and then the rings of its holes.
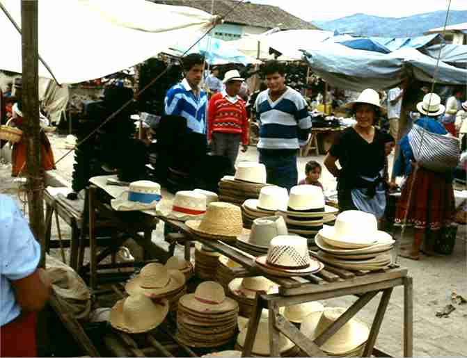
POLYGON ((287 87, 275 102, 271 101, 269 90, 260 92, 255 110, 260 124, 258 149, 299 149, 306 144, 311 118, 299 92, 287 87))

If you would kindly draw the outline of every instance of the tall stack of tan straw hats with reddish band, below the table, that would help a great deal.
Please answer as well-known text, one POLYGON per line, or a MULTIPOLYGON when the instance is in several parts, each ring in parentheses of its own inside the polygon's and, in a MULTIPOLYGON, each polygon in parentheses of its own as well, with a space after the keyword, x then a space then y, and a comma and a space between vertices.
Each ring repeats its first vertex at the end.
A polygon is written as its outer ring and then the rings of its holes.
POLYGON ((213 281, 198 285, 195 293, 180 298, 177 339, 197 348, 219 347, 235 334, 238 304, 225 297, 222 286, 213 281))

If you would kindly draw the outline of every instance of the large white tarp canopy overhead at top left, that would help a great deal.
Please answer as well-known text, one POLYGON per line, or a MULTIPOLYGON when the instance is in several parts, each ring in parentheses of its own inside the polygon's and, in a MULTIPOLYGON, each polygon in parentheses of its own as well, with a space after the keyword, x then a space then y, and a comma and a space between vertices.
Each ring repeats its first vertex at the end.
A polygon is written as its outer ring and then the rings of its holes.
MULTIPOLYGON (((21 26, 21 1, 0 0, 21 26)), ((157 55, 174 39, 198 38, 214 17, 145 0, 42 0, 39 54, 59 83, 97 79, 157 55)), ((21 36, 0 10, 0 69, 22 72, 21 36)), ((52 78, 39 64, 39 75, 52 78)))

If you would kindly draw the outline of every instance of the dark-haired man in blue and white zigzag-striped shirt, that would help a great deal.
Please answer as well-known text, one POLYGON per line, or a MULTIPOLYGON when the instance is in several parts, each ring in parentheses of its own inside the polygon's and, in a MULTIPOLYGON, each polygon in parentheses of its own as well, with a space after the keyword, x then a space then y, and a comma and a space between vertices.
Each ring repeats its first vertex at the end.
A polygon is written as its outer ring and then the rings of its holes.
POLYGON ((205 58, 189 54, 182 58, 185 78, 167 91, 164 99, 166 115, 187 118, 189 132, 206 133, 206 93, 201 90, 205 58))

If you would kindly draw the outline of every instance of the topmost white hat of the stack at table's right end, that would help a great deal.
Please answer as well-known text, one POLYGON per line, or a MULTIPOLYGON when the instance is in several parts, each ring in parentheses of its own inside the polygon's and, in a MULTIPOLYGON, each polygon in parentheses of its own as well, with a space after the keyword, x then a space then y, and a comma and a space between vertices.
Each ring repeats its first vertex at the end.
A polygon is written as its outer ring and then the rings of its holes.
POLYGON ((318 234, 329 245, 349 249, 369 247, 391 238, 388 233, 378 230, 377 218, 373 214, 358 210, 340 213, 333 227, 324 225, 318 234))

